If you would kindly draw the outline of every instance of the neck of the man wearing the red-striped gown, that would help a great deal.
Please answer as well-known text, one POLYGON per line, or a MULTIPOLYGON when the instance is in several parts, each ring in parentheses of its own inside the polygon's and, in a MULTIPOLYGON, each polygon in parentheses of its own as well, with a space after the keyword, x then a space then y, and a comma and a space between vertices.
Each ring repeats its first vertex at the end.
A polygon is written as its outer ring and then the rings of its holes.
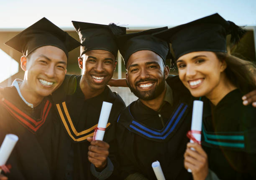
POLYGON ((42 100, 44 99, 44 96, 38 95, 35 92, 31 91, 31 88, 26 85, 26 81, 20 83, 19 87, 21 95, 27 102, 33 104, 33 107, 39 105, 40 102, 42 102, 42 100))

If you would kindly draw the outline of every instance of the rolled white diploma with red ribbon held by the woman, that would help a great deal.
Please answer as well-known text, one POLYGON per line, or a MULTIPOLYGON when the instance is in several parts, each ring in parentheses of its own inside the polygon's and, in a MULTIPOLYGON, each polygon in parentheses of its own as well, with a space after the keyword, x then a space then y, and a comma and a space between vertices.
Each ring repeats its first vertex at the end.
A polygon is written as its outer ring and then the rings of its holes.
MULTIPOLYGON (((193 112, 192 112, 192 122, 191 122, 191 130, 202 130, 202 111, 203 111, 204 103, 200 100, 194 100, 193 103, 193 112)), ((201 141, 201 134, 192 133, 196 140, 201 141)), ((190 143, 194 143, 193 140, 190 140, 190 143)), ((195 150, 192 148, 192 150, 195 150)), ((187 170, 189 173, 192 171, 190 169, 187 170)))

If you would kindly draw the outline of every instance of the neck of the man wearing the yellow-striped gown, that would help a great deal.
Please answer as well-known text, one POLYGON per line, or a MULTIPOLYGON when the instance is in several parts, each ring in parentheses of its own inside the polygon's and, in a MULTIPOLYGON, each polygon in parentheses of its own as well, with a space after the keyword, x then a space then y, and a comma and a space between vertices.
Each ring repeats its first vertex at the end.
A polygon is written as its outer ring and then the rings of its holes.
POLYGON ((79 85, 86 100, 100 95, 105 90, 105 87, 102 89, 92 89, 85 80, 84 75, 82 75, 79 85))

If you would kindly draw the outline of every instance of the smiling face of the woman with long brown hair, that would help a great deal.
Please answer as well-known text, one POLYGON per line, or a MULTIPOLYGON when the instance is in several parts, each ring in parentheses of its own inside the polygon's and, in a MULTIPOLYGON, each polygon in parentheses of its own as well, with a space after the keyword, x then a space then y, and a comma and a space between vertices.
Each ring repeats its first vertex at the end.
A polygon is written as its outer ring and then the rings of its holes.
POLYGON ((179 78, 194 97, 218 93, 224 83, 226 63, 218 60, 214 52, 199 51, 182 55, 177 60, 179 78))

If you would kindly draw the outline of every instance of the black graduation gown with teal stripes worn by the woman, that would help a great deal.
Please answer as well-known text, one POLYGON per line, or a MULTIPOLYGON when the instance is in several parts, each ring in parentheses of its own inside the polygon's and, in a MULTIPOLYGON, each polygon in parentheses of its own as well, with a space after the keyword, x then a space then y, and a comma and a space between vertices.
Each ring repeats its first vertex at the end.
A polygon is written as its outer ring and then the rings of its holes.
POLYGON ((233 90, 212 107, 204 99, 202 147, 209 168, 223 180, 256 179, 256 109, 241 97, 233 90))

